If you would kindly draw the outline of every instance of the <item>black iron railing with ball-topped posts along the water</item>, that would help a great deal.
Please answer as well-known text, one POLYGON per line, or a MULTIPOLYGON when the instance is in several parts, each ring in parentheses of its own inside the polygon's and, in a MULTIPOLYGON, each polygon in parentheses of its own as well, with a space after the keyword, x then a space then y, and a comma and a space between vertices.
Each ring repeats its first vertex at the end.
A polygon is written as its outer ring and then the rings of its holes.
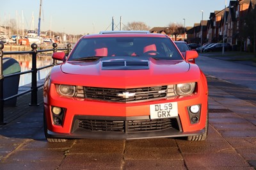
MULTIPOLYGON (((31 49, 30 51, 15 51, 15 52, 4 52, 4 44, 0 43, 0 125, 4 124, 4 102, 7 100, 10 100, 15 97, 19 97, 21 95, 24 95, 26 93, 31 92, 31 106, 36 106, 38 105, 37 103, 37 91, 38 88, 42 87, 42 85, 37 85, 37 72, 39 70, 43 70, 45 68, 49 68, 51 66, 54 66, 57 64, 57 61, 53 60, 51 65, 43 66, 40 68, 36 67, 36 58, 38 53, 42 52, 57 52, 58 50, 65 51, 67 55, 70 53, 71 50, 71 44, 67 44, 66 49, 57 49, 58 44, 57 43, 52 43, 52 49, 45 49, 45 50, 37 50, 37 45, 36 43, 31 44, 31 49), (31 70, 25 71, 25 72, 17 72, 17 73, 10 73, 8 75, 3 75, 3 56, 4 55, 12 55, 12 54, 31 54, 32 57, 32 68, 31 70), (31 73, 31 89, 28 89, 26 91, 22 91, 21 93, 17 93, 16 95, 13 95, 11 97, 4 98, 3 95, 3 89, 4 89, 4 79, 8 77, 13 77, 15 75, 22 75, 26 73, 31 73)), ((11 90, 11 89, 10 89, 11 90)))

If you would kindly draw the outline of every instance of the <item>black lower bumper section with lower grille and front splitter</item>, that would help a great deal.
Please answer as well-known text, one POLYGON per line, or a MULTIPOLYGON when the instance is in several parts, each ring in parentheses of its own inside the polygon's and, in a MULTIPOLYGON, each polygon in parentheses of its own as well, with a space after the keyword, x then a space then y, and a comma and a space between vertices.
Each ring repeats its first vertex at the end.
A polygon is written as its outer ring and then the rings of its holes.
POLYGON ((182 132, 179 117, 150 120, 149 116, 134 116, 129 118, 75 116, 71 133, 58 133, 47 130, 47 136, 50 138, 65 139, 148 139, 185 137, 189 135, 201 135, 204 132, 205 129, 182 132))

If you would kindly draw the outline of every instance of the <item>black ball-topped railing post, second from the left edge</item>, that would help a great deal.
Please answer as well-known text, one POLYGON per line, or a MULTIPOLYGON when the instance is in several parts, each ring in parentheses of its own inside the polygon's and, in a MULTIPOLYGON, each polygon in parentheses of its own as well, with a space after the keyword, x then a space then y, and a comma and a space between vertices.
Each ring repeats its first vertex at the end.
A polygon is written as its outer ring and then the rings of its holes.
POLYGON ((32 48, 32 80, 31 80, 31 106, 36 106, 39 105, 37 103, 37 78, 36 78, 36 74, 37 74, 37 68, 36 68, 36 49, 37 49, 37 45, 36 43, 32 43, 31 44, 31 48, 32 48))

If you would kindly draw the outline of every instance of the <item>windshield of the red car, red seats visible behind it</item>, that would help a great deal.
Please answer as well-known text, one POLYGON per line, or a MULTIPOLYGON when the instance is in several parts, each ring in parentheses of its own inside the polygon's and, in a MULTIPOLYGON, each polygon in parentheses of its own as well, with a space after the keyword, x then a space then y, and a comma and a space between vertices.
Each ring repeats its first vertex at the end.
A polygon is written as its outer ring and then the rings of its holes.
POLYGON ((156 59, 183 59, 169 38, 106 37, 83 38, 68 61, 108 56, 151 56, 156 59))

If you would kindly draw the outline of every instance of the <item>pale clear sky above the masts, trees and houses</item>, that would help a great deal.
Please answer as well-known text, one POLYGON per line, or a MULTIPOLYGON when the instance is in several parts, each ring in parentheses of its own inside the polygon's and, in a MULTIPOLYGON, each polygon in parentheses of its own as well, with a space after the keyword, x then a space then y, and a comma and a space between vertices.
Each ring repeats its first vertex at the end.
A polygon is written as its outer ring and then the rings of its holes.
MULTIPOLYGON (((208 20, 211 12, 223 10, 225 1, 228 6, 227 0, 42 0, 40 30, 99 33, 112 29, 112 18, 118 30, 121 17, 122 27, 129 22, 144 22, 150 28, 171 23, 193 27, 202 17, 208 20)), ((40 0, 0 0, 0 4, 1 26, 15 20, 20 28, 38 28, 40 0)))

